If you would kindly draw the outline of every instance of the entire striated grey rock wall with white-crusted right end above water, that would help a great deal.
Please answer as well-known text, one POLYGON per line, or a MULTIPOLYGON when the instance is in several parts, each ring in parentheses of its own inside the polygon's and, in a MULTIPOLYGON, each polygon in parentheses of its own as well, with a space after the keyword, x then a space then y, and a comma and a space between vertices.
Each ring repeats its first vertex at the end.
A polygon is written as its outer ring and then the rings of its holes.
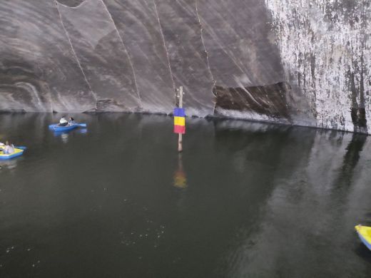
POLYGON ((0 0, 1 111, 171 113, 370 133, 367 0, 0 0))

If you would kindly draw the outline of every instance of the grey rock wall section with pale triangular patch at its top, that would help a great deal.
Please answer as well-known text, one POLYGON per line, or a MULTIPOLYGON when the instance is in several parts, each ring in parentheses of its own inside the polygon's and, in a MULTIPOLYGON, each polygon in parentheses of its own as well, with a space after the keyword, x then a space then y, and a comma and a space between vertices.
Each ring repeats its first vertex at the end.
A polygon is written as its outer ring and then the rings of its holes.
POLYGON ((97 96, 97 110, 141 110, 133 63, 103 1, 57 7, 71 47, 97 96))

